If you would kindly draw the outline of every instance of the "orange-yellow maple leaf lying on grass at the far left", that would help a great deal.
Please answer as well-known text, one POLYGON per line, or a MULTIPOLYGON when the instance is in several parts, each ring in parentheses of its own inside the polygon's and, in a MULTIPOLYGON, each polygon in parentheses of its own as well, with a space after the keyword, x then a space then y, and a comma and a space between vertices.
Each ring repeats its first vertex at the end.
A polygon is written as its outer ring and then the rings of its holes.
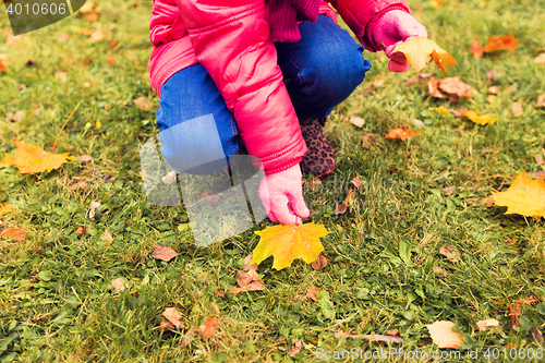
POLYGON ((45 170, 51 171, 60 168, 66 160, 74 160, 73 156, 69 156, 70 153, 51 154, 45 152, 39 146, 20 143, 14 140, 11 142, 15 144, 15 154, 5 155, 0 164, 12 165, 23 174, 43 172, 45 170))

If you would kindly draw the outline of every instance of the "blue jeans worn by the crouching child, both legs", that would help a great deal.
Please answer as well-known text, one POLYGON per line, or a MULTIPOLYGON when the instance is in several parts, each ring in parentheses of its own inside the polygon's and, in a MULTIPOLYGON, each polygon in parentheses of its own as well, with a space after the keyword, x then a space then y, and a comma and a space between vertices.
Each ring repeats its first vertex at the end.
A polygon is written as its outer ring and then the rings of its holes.
MULTIPOLYGON (((298 117, 324 118, 363 82, 371 63, 363 46, 326 15, 299 28, 300 41, 275 44, 278 65, 298 117)), ((202 64, 172 75, 159 107, 161 153, 178 172, 211 173, 238 153, 237 122, 202 64)))

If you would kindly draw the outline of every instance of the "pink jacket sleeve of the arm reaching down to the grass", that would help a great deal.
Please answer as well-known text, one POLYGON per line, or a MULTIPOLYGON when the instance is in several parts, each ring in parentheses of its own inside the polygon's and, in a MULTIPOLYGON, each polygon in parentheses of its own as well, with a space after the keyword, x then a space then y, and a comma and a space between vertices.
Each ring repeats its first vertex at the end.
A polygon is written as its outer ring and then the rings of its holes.
POLYGON ((301 161, 306 145, 282 83, 263 0, 177 0, 195 55, 267 173, 301 161))

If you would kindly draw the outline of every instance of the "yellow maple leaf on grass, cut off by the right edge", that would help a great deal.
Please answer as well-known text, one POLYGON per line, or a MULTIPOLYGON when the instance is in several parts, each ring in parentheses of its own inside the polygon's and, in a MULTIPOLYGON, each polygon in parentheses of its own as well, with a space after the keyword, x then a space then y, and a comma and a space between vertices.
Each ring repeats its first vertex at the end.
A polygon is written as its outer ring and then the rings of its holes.
POLYGON ((534 180, 525 171, 519 172, 513 183, 505 192, 493 192, 494 204, 507 207, 506 215, 545 217, 545 180, 534 180))

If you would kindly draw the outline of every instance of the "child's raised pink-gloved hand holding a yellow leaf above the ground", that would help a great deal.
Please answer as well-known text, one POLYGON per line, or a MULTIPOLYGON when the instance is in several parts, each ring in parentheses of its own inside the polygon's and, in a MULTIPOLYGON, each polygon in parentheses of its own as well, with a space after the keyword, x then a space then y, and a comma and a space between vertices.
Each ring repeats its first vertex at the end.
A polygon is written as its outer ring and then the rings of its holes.
POLYGON ((398 44, 419 35, 427 38, 426 28, 404 11, 389 11, 377 21, 373 29, 373 39, 390 59, 388 64, 390 72, 404 72, 409 69, 403 55, 391 55, 391 52, 398 44))

